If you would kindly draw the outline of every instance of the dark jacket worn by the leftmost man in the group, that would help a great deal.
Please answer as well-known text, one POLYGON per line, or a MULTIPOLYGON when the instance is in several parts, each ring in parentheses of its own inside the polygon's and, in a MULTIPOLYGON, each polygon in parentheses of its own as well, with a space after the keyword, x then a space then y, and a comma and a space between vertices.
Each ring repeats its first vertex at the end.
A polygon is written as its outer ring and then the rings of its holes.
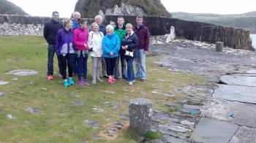
POLYGON ((45 40, 50 45, 55 45, 56 42, 56 34, 59 31, 59 29, 63 28, 62 23, 56 22, 54 20, 51 20, 49 23, 45 24, 44 27, 44 37, 45 40))

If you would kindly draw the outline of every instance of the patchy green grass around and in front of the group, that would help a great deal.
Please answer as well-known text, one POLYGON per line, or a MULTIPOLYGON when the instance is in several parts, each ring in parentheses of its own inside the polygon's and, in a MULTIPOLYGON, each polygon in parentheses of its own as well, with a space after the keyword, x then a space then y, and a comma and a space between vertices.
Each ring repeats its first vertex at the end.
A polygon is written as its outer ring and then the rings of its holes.
MULTIPOLYGON (((121 113, 128 115, 128 104, 132 98, 151 99, 155 110, 168 111, 170 109, 164 107, 164 102, 179 101, 187 95, 167 97, 152 91, 170 93, 174 88, 204 84, 206 81, 203 77, 167 71, 154 64, 156 57, 149 56, 147 82, 138 81, 133 86, 124 81, 115 85, 102 82, 64 88, 58 74, 54 74, 53 81, 46 79, 47 45, 42 36, 0 36, 0 51, 0 80, 10 82, 9 85, 0 85, 0 91, 6 93, 0 98, 0 142, 136 142, 138 136, 128 129, 113 140, 93 140, 91 136, 105 131, 111 125, 108 120, 120 120, 121 113), (29 77, 5 74, 14 69, 34 69, 39 73, 29 77), (13 80, 15 78, 18 80, 13 80), (75 106, 72 101, 83 105, 75 106), (118 108, 107 107, 105 102, 116 103, 118 108), (34 107, 40 114, 26 112, 26 107, 34 107), (94 112, 94 107, 105 112, 94 112), (11 120, 7 115, 15 119, 11 120), (89 128, 84 125, 84 120, 97 120, 99 128, 89 128)), ((89 81, 90 70, 91 58, 89 81)))

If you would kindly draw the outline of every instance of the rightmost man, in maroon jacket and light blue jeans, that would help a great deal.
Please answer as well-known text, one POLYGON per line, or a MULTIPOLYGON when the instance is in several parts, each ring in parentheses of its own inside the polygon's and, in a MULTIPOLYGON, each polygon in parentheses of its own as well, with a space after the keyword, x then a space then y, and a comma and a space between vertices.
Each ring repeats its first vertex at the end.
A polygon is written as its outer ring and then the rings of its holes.
POLYGON ((138 16, 136 18, 137 25, 133 28, 135 34, 137 34, 139 39, 139 47, 135 52, 137 53, 136 62, 136 78, 146 81, 146 52, 149 47, 149 31, 146 26, 143 25, 143 17, 138 16))

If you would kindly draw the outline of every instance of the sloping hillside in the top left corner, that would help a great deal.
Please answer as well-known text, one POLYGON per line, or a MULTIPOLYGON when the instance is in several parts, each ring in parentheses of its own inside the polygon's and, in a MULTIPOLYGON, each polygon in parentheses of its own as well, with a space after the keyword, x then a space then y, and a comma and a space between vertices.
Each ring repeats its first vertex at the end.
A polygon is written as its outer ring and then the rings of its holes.
POLYGON ((20 7, 10 1, 0 0, 0 14, 4 15, 28 15, 20 7))

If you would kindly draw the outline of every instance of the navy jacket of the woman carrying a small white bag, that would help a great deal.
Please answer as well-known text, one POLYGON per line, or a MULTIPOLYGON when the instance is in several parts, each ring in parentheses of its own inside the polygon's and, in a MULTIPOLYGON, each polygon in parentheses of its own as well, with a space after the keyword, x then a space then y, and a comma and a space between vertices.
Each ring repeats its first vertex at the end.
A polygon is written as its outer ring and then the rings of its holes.
MULTIPOLYGON (((139 40, 138 40, 138 36, 135 34, 135 32, 130 35, 124 35, 124 38, 121 40, 121 46, 126 46, 128 45, 128 51, 129 52, 134 52, 136 49, 138 49, 139 46, 139 40)), ((125 50, 121 50, 121 55, 124 55, 125 50)), ((128 55, 124 55, 124 58, 136 58, 135 53, 133 53, 133 57, 130 57, 128 55)))

